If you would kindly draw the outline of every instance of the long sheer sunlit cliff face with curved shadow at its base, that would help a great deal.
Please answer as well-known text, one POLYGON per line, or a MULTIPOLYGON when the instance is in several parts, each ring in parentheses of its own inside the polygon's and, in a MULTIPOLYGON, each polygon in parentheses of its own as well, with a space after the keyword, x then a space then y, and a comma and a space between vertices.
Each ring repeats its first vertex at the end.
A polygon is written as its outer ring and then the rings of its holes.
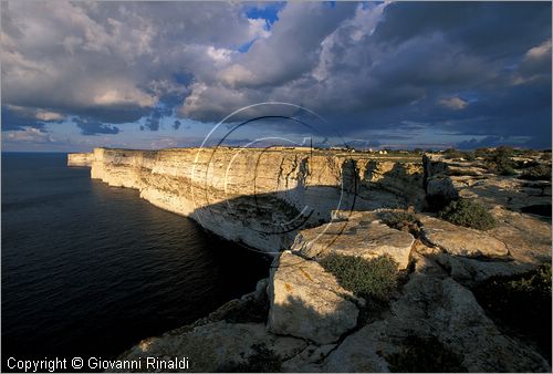
POLYGON ((96 148, 92 178, 136 188, 152 204, 265 252, 289 248, 299 229, 332 210, 418 206, 416 159, 301 148, 96 148))

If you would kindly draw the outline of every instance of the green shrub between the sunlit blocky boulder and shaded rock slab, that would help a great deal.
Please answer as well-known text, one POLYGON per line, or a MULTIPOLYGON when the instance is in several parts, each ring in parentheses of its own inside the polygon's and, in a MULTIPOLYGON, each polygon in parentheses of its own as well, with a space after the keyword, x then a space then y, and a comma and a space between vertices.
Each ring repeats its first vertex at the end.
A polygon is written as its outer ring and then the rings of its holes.
POLYGON ((343 288, 364 299, 387 301, 397 285, 397 262, 388 256, 366 260, 332 253, 320 263, 343 288))

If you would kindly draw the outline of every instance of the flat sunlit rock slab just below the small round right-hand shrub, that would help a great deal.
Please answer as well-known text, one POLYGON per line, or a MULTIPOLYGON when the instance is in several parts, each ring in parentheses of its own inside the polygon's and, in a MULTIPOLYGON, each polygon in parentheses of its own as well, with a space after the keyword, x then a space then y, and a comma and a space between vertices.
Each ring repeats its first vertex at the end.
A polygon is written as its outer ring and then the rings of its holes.
POLYGON ((449 254, 498 258, 509 253, 502 241, 486 232, 428 216, 419 218, 422 222, 422 237, 449 254))

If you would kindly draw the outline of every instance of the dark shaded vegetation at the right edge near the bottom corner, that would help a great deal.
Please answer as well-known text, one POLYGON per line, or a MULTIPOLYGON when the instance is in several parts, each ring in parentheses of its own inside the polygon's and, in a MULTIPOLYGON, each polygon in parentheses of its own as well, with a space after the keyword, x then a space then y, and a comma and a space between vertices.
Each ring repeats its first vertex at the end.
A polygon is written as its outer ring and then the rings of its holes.
POLYGON ((551 364, 551 264, 474 288, 480 305, 500 325, 533 342, 551 364))

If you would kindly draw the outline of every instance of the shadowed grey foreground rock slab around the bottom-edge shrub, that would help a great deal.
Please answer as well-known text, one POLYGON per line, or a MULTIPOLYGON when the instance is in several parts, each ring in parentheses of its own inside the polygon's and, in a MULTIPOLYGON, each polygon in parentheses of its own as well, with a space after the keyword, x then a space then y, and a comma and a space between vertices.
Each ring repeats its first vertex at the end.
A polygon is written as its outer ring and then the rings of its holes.
MULTIPOLYGON (((389 357, 409 336, 436 337, 469 372, 551 371, 541 355, 503 335, 469 290, 450 278, 425 274, 414 276, 384 320, 347 336, 319 370, 389 372, 389 357)), ((418 360, 432 360, 435 354, 418 360)))

